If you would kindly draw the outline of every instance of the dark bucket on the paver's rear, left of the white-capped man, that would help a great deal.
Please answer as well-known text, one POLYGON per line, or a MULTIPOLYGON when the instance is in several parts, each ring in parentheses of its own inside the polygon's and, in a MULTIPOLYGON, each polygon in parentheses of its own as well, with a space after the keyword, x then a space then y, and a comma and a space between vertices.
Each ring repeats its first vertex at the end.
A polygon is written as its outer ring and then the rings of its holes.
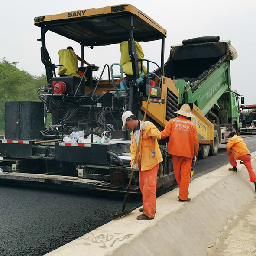
POLYGON ((110 186, 124 187, 126 178, 125 165, 111 165, 109 168, 110 186))

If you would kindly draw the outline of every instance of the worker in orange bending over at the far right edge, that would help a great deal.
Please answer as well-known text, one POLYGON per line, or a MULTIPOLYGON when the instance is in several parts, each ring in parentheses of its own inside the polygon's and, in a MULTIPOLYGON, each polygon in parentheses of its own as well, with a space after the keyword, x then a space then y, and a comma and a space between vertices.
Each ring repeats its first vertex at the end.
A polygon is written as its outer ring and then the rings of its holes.
POLYGON ((237 136, 237 133, 235 131, 231 132, 229 136, 230 140, 227 143, 226 149, 230 164, 233 166, 233 168, 229 168, 229 170, 237 172, 236 159, 243 161, 245 167, 248 170, 250 181, 254 182, 256 192, 256 176, 253 172, 250 151, 247 149, 247 146, 243 139, 240 136, 237 136), (231 149, 233 150, 233 152, 231 151, 231 149))

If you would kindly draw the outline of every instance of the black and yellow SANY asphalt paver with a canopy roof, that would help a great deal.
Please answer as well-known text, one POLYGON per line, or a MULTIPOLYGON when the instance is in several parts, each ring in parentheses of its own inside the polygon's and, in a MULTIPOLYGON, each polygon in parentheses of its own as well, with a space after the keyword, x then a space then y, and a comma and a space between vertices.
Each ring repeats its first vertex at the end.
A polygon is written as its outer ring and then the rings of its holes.
MULTIPOLYGON (((149 87, 152 86, 149 116, 160 130, 176 117, 179 94, 175 81, 164 74, 166 30, 132 5, 108 6, 46 15, 35 18, 41 29, 41 58, 48 84, 38 91, 42 102, 6 103, 6 135, 0 140, 1 181, 36 182, 85 188, 98 191, 125 192, 130 178, 130 134, 121 131, 122 113, 132 111, 142 120, 149 87), (46 48, 46 33, 54 32, 84 47, 127 42, 132 74, 123 74, 119 63, 104 65, 94 80, 96 66, 78 68, 81 78, 56 75, 59 65, 52 63, 46 48), (161 40, 161 63, 139 56, 137 42, 161 40), (120 68, 114 74, 113 66, 120 68), (146 67, 143 68, 143 65, 146 67), (158 73, 150 70, 158 69, 158 73), (144 72, 142 72, 144 71, 144 72), (103 75, 105 79, 103 79, 103 75), (84 76, 87 77, 85 81, 84 76), (107 77, 107 79, 106 79, 107 77), (45 127, 51 113, 52 125, 45 127), (65 141, 72 131, 84 132, 89 141, 65 141), (94 140, 104 136, 104 143, 94 140), (46 141, 46 142, 45 142, 46 141)), ((213 124, 191 104, 196 120, 204 126, 200 143, 211 144, 213 124)), ((166 142, 161 145, 164 161, 159 166, 157 188, 175 182, 166 142)), ((134 172, 130 193, 139 193, 139 173, 134 172)))

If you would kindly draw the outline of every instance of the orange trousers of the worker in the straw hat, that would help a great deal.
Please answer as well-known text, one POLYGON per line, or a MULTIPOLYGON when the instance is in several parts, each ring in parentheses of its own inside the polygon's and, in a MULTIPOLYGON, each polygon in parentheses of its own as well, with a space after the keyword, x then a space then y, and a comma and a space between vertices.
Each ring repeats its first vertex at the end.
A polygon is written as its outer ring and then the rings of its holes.
POLYGON ((172 155, 174 175, 180 188, 179 199, 188 199, 188 187, 190 181, 192 159, 184 156, 172 155))

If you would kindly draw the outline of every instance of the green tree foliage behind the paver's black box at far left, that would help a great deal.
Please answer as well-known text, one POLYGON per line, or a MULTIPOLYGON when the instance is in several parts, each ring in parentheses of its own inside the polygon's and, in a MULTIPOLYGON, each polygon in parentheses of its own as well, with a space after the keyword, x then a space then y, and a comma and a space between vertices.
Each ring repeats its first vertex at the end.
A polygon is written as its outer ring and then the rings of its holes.
MULTIPOLYGON (((4 133, 6 101, 39 101, 37 90, 47 84, 46 76, 33 76, 16 67, 18 62, 0 60, 0 134, 4 133)), ((8 118, 8 117, 7 117, 8 118)))

